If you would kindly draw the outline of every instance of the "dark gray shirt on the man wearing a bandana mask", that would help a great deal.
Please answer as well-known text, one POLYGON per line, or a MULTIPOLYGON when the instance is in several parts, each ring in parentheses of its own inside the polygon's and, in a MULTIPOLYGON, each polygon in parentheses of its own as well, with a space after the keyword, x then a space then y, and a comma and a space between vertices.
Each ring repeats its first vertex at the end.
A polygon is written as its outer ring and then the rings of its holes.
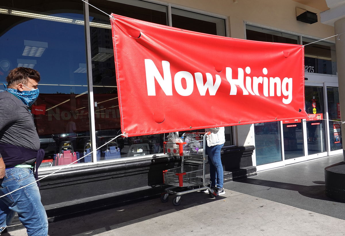
POLYGON ((0 92, 0 143, 40 148, 29 107, 9 92, 0 92))

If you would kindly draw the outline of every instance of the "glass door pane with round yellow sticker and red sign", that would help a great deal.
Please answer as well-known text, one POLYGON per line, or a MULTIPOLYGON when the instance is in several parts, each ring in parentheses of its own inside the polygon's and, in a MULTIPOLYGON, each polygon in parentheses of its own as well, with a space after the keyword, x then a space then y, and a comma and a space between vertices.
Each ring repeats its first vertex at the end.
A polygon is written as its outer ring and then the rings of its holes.
POLYGON ((307 118, 308 155, 325 152, 325 109, 323 87, 305 86, 305 110, 307 118))

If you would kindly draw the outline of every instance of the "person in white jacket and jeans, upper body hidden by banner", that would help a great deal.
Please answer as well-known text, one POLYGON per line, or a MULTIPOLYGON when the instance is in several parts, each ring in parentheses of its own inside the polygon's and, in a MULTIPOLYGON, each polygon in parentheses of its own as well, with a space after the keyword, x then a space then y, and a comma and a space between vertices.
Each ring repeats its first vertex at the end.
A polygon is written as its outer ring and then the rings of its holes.
MULTIPOLYGON (((220 159, 220 150, 225 143, 224 127, 215 127, 205 129, 205 132, 210 132, 206 136, 206 154, 208 155, 208 163, 210 165, 210 188, 214 188, 216 195, 225 194, 223 188, 223 165, 220 159)), ((203 191, 208 193, 208 190, 203 191)))

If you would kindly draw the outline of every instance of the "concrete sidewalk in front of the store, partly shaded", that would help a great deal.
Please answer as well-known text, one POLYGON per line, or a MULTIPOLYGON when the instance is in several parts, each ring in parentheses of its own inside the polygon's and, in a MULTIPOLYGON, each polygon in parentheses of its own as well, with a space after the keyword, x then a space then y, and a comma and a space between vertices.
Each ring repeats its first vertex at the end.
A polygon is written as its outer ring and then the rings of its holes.
MULTIPOLYGON (((183 195, 179 206, 172 205, 170 196, 167 203, 157 198, 61 220, 49 224, 49 235, 345 235, 345 203, 332 201, 321 190, 324 167, 340 161, 342 155, 259 172, 258 176, 226 183, 237 192, 226 189, 226 194, 217 198, 194 192, 183 195), (314 170, 307 171, 309 179, 302 180, 301 170, 307 170, 306 166, 314 170), (285 171, 289 177, 282 173, 285 171), (281 175, 284 182, 279 182, 277 176, 281 175), (306 194, 311 191, 308 183, 315 179, 321 187, 312 191, 314 195, 306 194)), ((25 236, 26 230, 2 235, 25 236)))

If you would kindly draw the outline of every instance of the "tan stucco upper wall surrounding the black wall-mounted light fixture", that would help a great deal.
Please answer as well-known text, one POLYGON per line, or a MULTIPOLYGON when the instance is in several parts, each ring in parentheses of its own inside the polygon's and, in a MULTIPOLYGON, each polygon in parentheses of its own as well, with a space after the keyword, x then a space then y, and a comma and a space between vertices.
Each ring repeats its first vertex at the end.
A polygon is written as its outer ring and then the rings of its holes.
MULTIPOLYGON (((168 3, 221 14, 228 17, 230 37, 245 38, 244 21, 276 30, 313 38, 334 35, 334 27, 320 23, 320 10, 292 0, 171 0, 168 3), (307 24, 296 20, 296 7, 318 14, 318 22, 307 24)), ((334 40, 334 39, 329 39, 334 40)))

